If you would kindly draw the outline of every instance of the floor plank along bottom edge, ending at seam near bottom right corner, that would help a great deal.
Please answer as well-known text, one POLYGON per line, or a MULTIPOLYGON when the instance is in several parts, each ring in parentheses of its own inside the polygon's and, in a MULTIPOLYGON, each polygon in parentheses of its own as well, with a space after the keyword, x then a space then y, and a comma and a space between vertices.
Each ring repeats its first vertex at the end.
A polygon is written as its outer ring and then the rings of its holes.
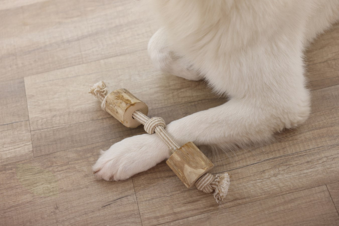
POLYGON ((326 186, 320 186, 216 210, 164 225, 339 224, 339 215, 331 202, 326 186))

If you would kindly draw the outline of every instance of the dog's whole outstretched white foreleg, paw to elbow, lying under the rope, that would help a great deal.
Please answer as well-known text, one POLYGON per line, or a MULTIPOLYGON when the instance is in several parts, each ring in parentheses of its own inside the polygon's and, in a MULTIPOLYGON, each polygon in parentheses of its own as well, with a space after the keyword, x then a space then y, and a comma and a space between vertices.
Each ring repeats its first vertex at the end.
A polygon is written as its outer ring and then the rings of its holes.
MULTIPOLYGON (((306 120, 310 111, 307 94, 305 89, 305 100, 285 106, 282 101, 264 105, 259 99, 232 99, 221 106, 173 121, 166 130, 180 146, 188 141, 221 146, 260 142, 284 127, 294 127, 306 120)), ((264 99, 264 102, 269 101, 264 99)), ((138 135, 103 152, 93 171, 98 179, 125 180, 170 155, 169 148, 156 134, 138 135)))

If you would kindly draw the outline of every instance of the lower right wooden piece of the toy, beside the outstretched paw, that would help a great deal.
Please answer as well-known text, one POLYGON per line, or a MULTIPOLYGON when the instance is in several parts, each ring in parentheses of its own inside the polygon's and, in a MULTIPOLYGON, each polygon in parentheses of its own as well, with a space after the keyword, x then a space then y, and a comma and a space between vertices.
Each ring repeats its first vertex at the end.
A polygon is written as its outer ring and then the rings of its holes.
POLYGON ((213 163, 192 142, 176 150, 166 163, 187 188, 192 188, 203 174, 214 167, 213 163))

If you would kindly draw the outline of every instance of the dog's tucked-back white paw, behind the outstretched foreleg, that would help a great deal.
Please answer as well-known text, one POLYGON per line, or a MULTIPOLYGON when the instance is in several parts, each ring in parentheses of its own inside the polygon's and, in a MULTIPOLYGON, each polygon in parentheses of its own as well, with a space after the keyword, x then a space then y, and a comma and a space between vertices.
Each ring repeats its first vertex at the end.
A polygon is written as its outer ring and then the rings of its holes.
POLYGON ((148 54, 155 67, 164 73, 194 81, 201 79, 191 63, 171 51, 163 28, 160 28, 149 40, 148 54))

